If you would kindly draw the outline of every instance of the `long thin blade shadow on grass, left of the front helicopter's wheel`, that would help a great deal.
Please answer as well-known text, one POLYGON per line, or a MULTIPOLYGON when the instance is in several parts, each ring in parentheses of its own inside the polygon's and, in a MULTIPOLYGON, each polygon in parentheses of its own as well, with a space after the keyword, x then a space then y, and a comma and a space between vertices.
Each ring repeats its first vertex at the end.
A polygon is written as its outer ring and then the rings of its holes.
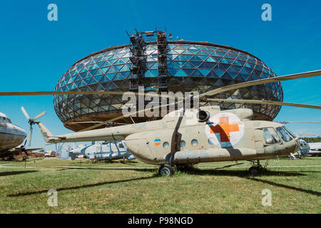
MULTIPOLYGON (((133 178, 133 179, 127 179, 127 180, 114 180, 114 181, 108 181, 108 182, 100 182, 96 184, 89 184, 89 185, 78 185, 78 186, 73 186, 73 187, 61 187, 56 189, 58 192, 59 191, 65 191, 65 190, 78 190, 82 188, 87 188, 87 187, 96 187, 96 186, 101 186, 101 185, 111 185, 111 184, 117 184, 117 183, 122 183, 122 182, 131 182, 131 181, 136 181, 136 180, 148 180, 158 177, 158 175, 153 175, 151 177, 139 177, 139 178, 133 178)), ((34 192, 21 192, 17 194, 11 194, 11 195, 6 195, 7 197, 21 197, 21 196, 27 196, 27 195, 37 195, 41 193, 46 193, 48 190, 39 190, 39 191, 34 191, 34 192)))

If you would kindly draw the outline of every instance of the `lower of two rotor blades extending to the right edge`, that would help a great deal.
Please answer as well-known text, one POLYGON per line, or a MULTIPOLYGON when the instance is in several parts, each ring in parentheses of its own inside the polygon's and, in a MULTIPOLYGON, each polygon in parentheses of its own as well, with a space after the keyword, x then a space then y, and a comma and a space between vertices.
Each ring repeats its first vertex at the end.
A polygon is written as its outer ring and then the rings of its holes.
POLYGON ((319 105, 305 105, 305 104, 297 104, 297 103, 286 103, 272 100, 237 100, 237 99, 215 99, 215 98, 207 98, 200 99, 202 101, 210 101, 210 102, 224 102, 224 103, 248 103, 248 104, 258 104, 258 105, 279 105, 279 106, 291 106, 291 107, 301 107, 301 108, 314 108, 321 109, 319 105))

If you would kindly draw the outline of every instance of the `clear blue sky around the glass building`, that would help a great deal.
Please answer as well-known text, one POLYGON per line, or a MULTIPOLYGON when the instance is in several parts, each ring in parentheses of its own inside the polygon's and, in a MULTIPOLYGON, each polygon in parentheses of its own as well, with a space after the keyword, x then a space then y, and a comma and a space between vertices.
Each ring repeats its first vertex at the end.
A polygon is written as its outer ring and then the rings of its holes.
MULTIPOLYGON (((109 46, 129 42, 126 30, 167 28, 173 37, 248 51, 277 76, 321 69, 321 1, 4 1, 0 8, 0 91, 54 90, 68 68, 109 46), (58 6, 48 21, 47 6, 58 6), (261 6, 272 6, 272 21, 261 6)), ((285 102, 321 105, 321 77, 282 82, 285 102)), ((54 134, 71 132, 56 116, 51 95, 1 97, 0 112, 29 129, 20 111, 43 110, 54 134)), ((282 107, 275 119, 321 121, 320 110, 282 107)), ((321 135, 320 125, 291 124, 295 133, 321 135)), ((34 126, 34 147, 44 147, 34 126)), ((52 148, 46 146, 46 148, 52 148)))

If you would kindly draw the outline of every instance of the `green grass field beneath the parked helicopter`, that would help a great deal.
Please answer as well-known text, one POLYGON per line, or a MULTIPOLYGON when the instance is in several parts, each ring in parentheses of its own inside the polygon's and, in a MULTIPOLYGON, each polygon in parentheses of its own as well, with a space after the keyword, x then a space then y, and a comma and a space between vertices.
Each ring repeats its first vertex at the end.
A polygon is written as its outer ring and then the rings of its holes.
POLYGON ((249 175, 250 162, 239 163, 243 164, 202 163, 195 170, 159 177, 157 166, 143 162, 0 161, 0 212, 321 212, 320 157, 270 160, 268 172, 258 177, 249 175), (222 168, 227 165, 234 166, 222 168), (47 204, 50 189, 58 191, 57 207, 47 204), (265 189, 272 192, 270 207, 261 203, 264 197, 261 192, 265 189))

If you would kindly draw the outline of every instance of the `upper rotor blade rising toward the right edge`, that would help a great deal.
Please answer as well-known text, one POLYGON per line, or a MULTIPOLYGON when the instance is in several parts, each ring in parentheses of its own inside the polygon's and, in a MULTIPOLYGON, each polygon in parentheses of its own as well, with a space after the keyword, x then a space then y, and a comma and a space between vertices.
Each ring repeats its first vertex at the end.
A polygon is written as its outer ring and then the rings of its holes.
POLYGON ((238 83, 230 86, 223 86, 221 88, 216 88, 214 90, 210 90, 205 93, 201 93, 198 95, 200 98, 205 96, 205 95, 215 95, 218 93, 223 93, 228 90, 236 90, 238 88, 244 88, 248 86, 257 86, 257 85, 262 85, 265 83, 273 83, 277 81, 287 81, 291 79, 297 79, 297 78, 309 78, 309 77, 315 77, 315 76, 321 76, 321 70, 319 71, 308 71, 304 73, 295 73, 295 74, 290 74, 288 76, 279 76, 275 78, 265 78, 265 79, 260 79, 260 80, 255 80, 255 81, 248 81, 245 83, 238 83))

